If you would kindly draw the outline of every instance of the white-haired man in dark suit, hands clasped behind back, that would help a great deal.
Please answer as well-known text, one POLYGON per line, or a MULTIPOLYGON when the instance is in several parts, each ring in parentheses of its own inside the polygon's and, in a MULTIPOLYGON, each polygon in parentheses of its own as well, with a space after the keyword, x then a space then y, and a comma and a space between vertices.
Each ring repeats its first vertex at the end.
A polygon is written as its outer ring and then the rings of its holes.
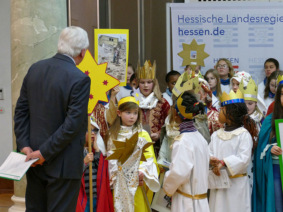
POLYGON ((85 30, 62 30, 58 53, 33 64, 15 108, 17 151, 26 161, 26 211, 75 211, 83 173, 90 78, 76 67, 89 46, 85 30), (42 165, 42 166, 40 166, 42 165))

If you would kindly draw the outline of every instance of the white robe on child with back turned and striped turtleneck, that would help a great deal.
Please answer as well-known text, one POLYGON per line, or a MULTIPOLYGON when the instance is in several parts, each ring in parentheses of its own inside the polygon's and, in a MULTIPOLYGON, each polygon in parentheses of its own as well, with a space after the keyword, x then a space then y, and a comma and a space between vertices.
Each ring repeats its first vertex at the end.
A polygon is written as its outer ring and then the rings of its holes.
POLYGON ((196 132, 184 132, 172 144, 172 162, 163 188, 172 195, 172 212, 208 212, 208 200, 191 199, 176 192, 199 195, 207 192, 209 152, 206 140, 196 132))

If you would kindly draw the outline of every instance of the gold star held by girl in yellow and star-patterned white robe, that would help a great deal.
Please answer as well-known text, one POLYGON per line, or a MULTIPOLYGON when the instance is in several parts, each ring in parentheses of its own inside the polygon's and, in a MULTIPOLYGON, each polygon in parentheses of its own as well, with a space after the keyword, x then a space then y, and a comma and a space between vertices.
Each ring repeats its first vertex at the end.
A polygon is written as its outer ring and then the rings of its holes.
MULTIPOLYGON (((113 149, 114 152, 109 157, 105 158, 105 160, 118 160, 118 162, 121 162, 121 164, 125 163, 126 160, 130 157, 130 155, 134 151, 134 147, 136 146, 138 142, 138 132, 136 132, 132 137, 129 139, 126 138, 125 141, 118 141, 118 140, 112 140, 116 149, 113 149)), ((154 142, 148 142, 142 147, 142 157, 141 161, 146 161, 145 149, 153 145, 154 142)))

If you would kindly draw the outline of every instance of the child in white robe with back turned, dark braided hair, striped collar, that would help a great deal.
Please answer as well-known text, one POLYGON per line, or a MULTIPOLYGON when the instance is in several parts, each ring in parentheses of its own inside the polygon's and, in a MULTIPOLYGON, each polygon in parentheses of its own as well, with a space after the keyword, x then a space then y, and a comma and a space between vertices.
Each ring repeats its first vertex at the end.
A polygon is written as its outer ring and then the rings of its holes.
POLYGON ((172 107, 180 135, 172 144, 172 162, 164 175, 163 188, 172 196, 172 212, 207 212, 208 145, 193 120, 197 114, 204 113, 205 106, 189 93, 182 93, 178 99, 172 107))

